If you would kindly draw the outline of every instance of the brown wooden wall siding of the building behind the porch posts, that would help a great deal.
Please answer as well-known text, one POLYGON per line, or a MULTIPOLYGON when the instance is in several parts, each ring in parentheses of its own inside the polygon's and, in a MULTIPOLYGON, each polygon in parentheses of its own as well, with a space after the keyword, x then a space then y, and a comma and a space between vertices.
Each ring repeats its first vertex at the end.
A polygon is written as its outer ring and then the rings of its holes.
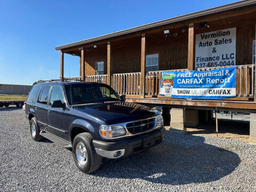
MULTIPOLYGON (((231 28, 234 26, 226 27, 231 28)), ((255 23, 238 25, 236 29, 236 65, 252 64, 252 41, 255 39, 255 23)), ((224 27, 214 30, 225 29, 224 27)), ((204 32, 212 31, 208 29, 204 32)), ((201 32, 197 32, 199 34, 201 32)), ((202 32, 203 33, 203 32, 202 32)), ((188 66, 188 33, 178 37, 158 38, 146 35, 146 55, 159 54, 158 70, 185 69, 188 66)), ((111 74, 140 72, 141 44, 115 48, 111 46, 111 74)), ((85 75, 95 75, 95 62, 104 61, 104 74, 107 74, 107 46, 105 51, 85 54, 85 75)))

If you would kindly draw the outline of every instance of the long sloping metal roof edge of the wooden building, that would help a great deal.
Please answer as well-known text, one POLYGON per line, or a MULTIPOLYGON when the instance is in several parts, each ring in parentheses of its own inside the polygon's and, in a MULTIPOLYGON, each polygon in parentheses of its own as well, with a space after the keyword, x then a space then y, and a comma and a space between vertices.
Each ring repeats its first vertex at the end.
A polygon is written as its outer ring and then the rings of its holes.
POLYGON ((213 13, 218 13, 218 12, 223 12, 223 11, 228 11, 228 10, 234 10, 234 9, 238 9, 238 8, 242 8, 242 7, 247 7, 247 6, 250 6, 250 5, 253 5, 253 4, 256 4, 256 0, 244 0, 244 1, 239 1, 239 2, 235 2, 235 3, 230 3, 230 4, 227 4, 227 5, 222 5, 222 6, 214 7, 214 8, 207 9, 207 10, 202 10, 202 11, 198 11, 198 12, 194 12, 194 13, 181 15, 179 17, 174 17, 174 18, 171 18, 171 19, 165 19, 165 20, 162 20, 162 21, 157 21, 157 22, 146 24, 146 25, 117 31, 115 33, 110 33, 110 34, 107 34, 107 35, 102 35, 102 36, 98 36, 98 37, 85 39, 83 41, 78 41, 78 42, 69 43, 69 44, 66 44, 66 45, 57 46, 57 47, 55 47, 55 49, 56 50, 63 50, 63 49, 67 49, 67 48, 70 48, 70 47, 85 45, 87 43, 93 43, 93 42, 106 40, 106 39, 117 37, 117 36, 122 36, 122 35, 135 33, 135 32, 138 32, 138 31, 145 30, 145 29, 164 26, 164 25, 171 24, 171 23, 174 23, 174 22, 185 21, 185 20, 188 20, 188 19, 195 19, 195 18, 202 17, 202 16, 209 15, 209 14, 213 14, 213 13))

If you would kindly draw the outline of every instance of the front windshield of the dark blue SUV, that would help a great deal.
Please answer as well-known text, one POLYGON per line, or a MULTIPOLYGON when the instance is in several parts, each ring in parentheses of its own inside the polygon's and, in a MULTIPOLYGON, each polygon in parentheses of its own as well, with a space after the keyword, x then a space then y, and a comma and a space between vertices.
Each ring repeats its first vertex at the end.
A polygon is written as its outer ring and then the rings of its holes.
POLYGON ((118 94, 105 84, 70 84, 65 85, 65 91, 69 105, 121 100, 118 94))

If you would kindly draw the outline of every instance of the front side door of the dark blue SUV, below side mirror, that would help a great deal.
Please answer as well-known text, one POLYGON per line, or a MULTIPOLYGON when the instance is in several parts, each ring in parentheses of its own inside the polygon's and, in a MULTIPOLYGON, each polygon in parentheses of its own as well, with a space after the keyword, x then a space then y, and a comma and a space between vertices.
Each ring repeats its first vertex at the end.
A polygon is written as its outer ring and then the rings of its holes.
POLYGON ((53 101, 60 100, 63 104, 64 94, 61 86, 52 86, 50 105, 47 109, 47 130, 63 139, 67 138, 67 111, 66 108, 51 107, 53 101))

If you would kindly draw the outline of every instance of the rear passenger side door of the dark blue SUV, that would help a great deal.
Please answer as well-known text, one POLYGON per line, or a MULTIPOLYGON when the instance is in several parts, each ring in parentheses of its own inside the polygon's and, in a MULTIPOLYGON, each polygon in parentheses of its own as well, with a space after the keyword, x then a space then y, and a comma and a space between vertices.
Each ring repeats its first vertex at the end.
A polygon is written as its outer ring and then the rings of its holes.
POLYGON ((37 123, 41 129, 47 129, 47 107, 49 104, 49 91, 51 86, 43 86, 42 91, 38 97, 38 101, 35 105, 35 116, 37 119, 37 123))

